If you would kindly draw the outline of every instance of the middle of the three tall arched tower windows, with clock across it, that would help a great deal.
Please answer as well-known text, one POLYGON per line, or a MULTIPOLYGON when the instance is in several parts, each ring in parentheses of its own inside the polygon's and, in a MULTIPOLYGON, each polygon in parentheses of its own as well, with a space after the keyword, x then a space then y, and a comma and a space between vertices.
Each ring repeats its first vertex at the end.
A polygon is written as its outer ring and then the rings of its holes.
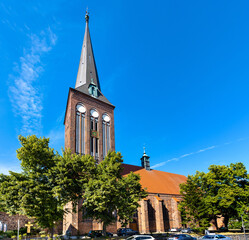
POLYGON ((99 113, 95 109, 92 109, 90 111, 90 117, 91 117, 90 150, 91 150, 91 155, 96 159, 96 162, 98 162, 98 159, 99 159, 99 133, 98 133, 99 113))

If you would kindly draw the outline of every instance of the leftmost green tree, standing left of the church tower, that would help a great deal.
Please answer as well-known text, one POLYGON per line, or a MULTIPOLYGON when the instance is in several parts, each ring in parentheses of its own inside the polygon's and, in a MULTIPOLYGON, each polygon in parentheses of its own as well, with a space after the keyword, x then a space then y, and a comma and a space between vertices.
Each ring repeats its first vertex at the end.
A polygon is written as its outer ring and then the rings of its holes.
POLYGON ((19 136, 19 141, 22 146, 17 150, 17 158, 22 172, 2 176, 0 184, 5 211, 32 217, 53 235, 55 222, 63 217, 62 201, 54 195, 55 182, 49 173, 56 165, 57 154, 49 148, 47 138, 19 136))

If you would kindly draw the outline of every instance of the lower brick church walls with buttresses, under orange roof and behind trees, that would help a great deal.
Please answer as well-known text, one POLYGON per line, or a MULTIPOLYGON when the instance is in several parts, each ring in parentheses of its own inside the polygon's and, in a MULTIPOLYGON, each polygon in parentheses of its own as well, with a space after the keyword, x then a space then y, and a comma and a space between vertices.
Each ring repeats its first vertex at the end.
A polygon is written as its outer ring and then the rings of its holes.
MULTIPOLYGON (((129 224, 132 229, 137 229, 140 233, 165 232, 170 228, 181 227, 181 217, 177 209, 179 195, 169 194, 149 194, 146 199, 140 201, 137 216, 134 222, 129 224)), ((83 220, 82 212, 79 211, 79 203, 76 213, 68 213, 64 217, 63 232, 68 230, 72 235, 85 234, 90 230, 101 230, 102 224, 90 219, 83 220)), ((71 203, 66 206, 71 209, 71 203)), ((121 227, 120 222, 107 227, 107 231, 116 233, 121 227)))

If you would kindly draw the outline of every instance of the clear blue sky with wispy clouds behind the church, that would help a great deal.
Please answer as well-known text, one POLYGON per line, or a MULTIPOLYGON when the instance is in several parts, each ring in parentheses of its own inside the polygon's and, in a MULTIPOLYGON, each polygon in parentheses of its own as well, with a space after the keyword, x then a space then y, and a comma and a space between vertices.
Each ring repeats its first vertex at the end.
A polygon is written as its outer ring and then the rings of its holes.
POLYGON ((249 2, 0 1, 0 172, 19 171, 19 134, 64 147, 84 13, 102 92, 116 106, 116 150, 194 174, 249 167, 249 2))

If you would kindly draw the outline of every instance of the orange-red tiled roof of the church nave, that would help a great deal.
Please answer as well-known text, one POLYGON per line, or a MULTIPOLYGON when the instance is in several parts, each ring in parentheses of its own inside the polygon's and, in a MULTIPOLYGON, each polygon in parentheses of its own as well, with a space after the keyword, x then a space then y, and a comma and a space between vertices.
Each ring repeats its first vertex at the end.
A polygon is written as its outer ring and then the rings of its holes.
POLYGON ((158 170, 145 170, 143 167, 123 164, 122 175, 130 172, 139 174, 140 183, 149 193, 177 194, 180 195, 179 185, 187 180, 187 177, 179 174, 168 173, 158 170))

